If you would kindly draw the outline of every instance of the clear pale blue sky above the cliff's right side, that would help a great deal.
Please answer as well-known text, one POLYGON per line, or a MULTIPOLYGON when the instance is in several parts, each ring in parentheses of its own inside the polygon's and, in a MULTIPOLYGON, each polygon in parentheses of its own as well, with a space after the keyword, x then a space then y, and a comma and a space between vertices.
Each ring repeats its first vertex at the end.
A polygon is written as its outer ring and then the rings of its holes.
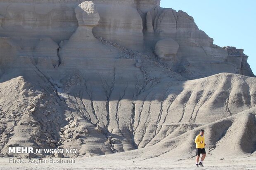
POLYGON ((256 75, 256 0, 161 0, 161 7, 193 16, 214 44, 244 49, 256 75))

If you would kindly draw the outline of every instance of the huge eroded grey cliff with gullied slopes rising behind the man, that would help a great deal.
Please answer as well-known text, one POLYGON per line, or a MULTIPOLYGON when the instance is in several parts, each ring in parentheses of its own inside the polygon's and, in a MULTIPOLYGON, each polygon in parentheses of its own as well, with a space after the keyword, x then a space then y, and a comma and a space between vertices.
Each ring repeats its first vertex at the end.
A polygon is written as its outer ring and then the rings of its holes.
POLYGON ((1 153, 33 145, 111 154, 247 109, 255 116, 243 51, 214 45, 191 16, 159 2, 0 0, 1 153))

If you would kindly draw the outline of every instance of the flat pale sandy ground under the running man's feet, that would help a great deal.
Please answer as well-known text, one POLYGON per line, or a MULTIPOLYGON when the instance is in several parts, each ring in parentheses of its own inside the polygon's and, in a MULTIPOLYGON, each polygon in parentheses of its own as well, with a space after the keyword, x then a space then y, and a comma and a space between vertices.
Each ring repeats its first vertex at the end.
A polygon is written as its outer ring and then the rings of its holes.
MULTIPOLYGON (((59 160, 59 158, 54 158, 59 160)), ((34 159, 36 160, 36 159, 34 159)), ((108 159, 106 156, 90 158, 76 158, 75 163, 9 163, 9 158, 0 158, 1 170, 256 170, 256 155, 247 158, 223 159, 207 156, 204 161, 205 167, 196 167, 194 158, 180 160, 170 158, 161 161, 120 161, 108 159)), ((62 158, 64 160, 64 158, 62 158)), ((70 160, 70 159, 69 159, 70 160)))

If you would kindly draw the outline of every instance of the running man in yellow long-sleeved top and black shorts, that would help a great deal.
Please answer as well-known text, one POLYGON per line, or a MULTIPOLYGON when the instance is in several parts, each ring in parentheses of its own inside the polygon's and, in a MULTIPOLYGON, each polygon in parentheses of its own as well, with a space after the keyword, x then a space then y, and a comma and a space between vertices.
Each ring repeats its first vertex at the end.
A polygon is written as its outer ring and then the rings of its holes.
POLYGON ((204 130, 201 129, 199 135, 197 135, 196 139, 194 140, 196 143, 196 149, 197 149, 197 156, 196 156, 196 165, 204 166, 203 161, 206 156, 206 152, 204 149, 204 146, 206 145, 204 143, 204 130), (202 154, 201 161, 199 162, 200 154, 202 154))

